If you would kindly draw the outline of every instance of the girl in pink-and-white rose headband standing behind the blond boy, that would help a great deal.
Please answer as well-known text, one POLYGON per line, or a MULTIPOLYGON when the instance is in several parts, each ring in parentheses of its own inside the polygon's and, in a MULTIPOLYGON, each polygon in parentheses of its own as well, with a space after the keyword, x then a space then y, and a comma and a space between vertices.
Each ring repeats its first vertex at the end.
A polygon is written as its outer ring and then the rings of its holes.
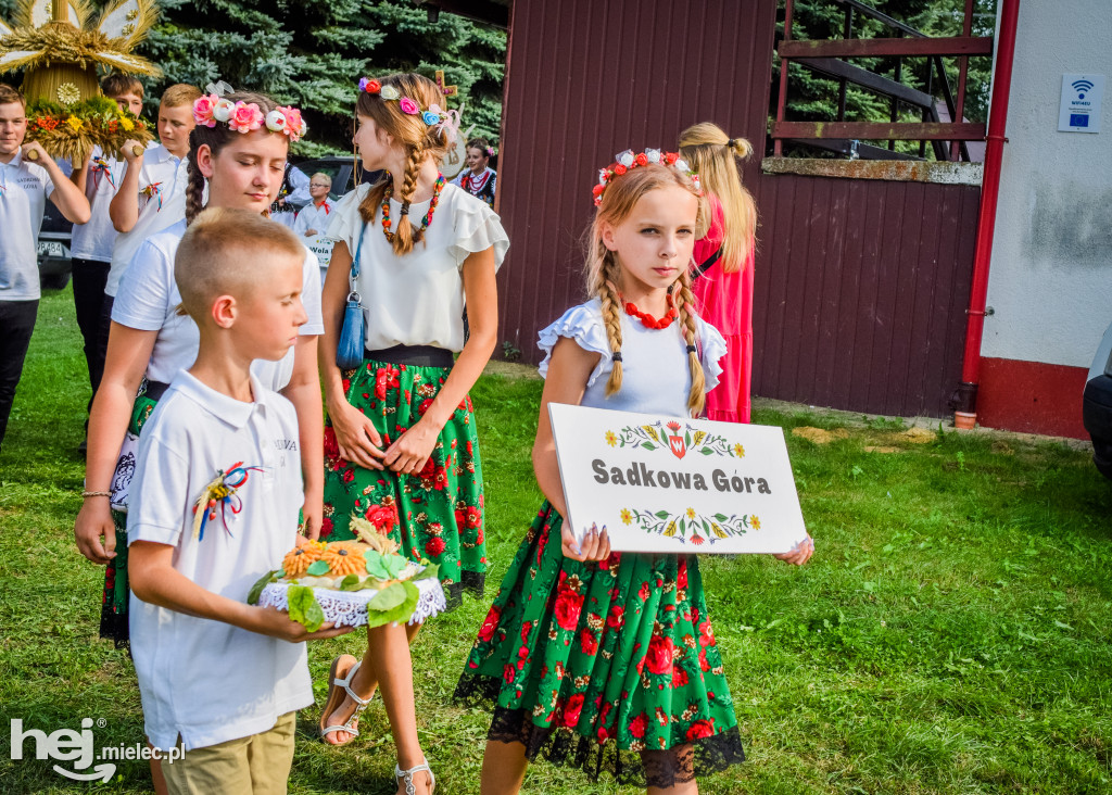
MULTIPOLYGON (((209 207, 265 212, 281 183, 289 143, 305 133, 297 109, 279 108, 258 93, 201 96, 193 103, 193 118, 197 127, 190 133, 186 218, 141 244, 125 272, 112 307, 100 397, 95 399, 89 421, 87 497, 77 516, 75 535, 82 555, 108 566, 100 633, 117 645, 126 644, 128 638, 123 511, 135 466, 135 439, 166 386, 192 364, 200 339, 197 325, 178 314, 181 298, 173 280, 178 241, 187 223, 202 209, 206 183, 209 207)), ((305 520, 307 533, 315 537, 320 529, 324 489, 317 378, 317 335, 324 329, 319 265, 308 249, 304 272, 301 300, 309 321, 285 359, 256 361, 252 372, 297 408, 305 468, 305 520)))

